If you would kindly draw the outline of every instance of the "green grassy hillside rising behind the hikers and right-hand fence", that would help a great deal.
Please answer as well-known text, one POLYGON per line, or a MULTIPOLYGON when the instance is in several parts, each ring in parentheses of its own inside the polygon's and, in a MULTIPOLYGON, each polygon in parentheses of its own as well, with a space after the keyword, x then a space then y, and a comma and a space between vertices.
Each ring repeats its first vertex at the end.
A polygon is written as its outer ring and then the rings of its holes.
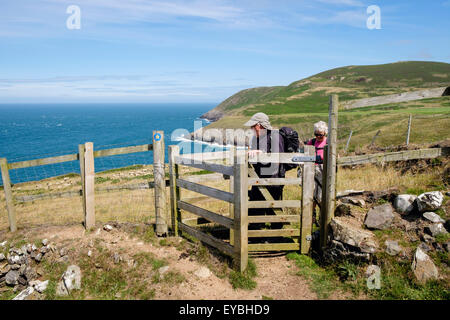
MULTIPOLYGON (((285 87, 241 91, 210 112, 222 117, 208 128, 239 128, 254 113, 264 112, 275 127, 293 127, 306 139, 312 136, 314 122, 328 121, 330 94, 338 94, 343 102, 444 86, 450 86, 450 64, 447 63, 411 61, 342 67, 285 87)), ((450 97, 440 97, 341 110, 340 147, 344 147, 351 130, 350 151, 370 143, 378 130, 381 130, 378 145, 402 144, 409 114, 413 115, 411 143, 426 144, 450 138, 450 97)))

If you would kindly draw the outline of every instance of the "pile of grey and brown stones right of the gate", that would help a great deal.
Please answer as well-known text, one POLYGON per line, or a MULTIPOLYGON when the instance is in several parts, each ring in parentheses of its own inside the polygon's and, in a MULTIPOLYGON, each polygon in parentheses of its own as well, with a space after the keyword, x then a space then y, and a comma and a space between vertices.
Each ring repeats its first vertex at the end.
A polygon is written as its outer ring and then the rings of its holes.
POLYGON ((330 223, 325 260, 330 263, 342 259, 371 262, 375 252, 384 250, 391 256, 410 259, 411 269, 419 282, 437 279, 437 268, 427 252, 450 251, 449 241, 442 243, 442 240, 437 240, 437 237, 449 231, 449 220, 442 219, 434 212, 442 208, 443 200, 444 196, 439 191, 419 196, 399 195, 396 192, 361 192, 357 196, 340 198, 335 218, 330 223), (383 204, 379 204, 380 199, 385 200, 381 201, 383 204), (377 243, 373 230, 394 228, 403 232, 405 241, 414 244, 412 255, 408 256, 407 250, 396 240, 377 243))

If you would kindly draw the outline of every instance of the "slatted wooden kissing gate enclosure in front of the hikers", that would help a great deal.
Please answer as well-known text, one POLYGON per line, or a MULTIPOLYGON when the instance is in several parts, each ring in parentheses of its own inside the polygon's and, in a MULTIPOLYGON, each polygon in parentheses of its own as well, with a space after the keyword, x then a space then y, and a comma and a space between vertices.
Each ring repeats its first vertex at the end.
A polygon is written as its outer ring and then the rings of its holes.
POLYGON ((170 196, 172 230, 175 235, 181 231, 231 256, 237 270, 244 271, 248 264, 249 252, 299 251, 307 254, 312 240, 312 204, 314 191, 314 149, 305 147, 304 153, 258 154, 248 159, 246 150, 209 152, 180 155, 178 146, 169 146, 170 196), (231 165, 222 164, 233 159, 231 165), (222 163, 210 161, 221 160, 222 163), (259 178, 252 164, 257 162, 296 163, 303 165, 300 178, 259 178), (186 179, 180 179, 179 166, 188 166, 221 173, 231 177, 229 191, 222 191, 186 179), (273 185, 302 185, 302 200, 274 200, 267 190, 273 185), (248 190, 257 186, 265 197, 263 201, 249 201, 248 190), (181 199, 180 189, 194 191, 207 197, 228 202, 231 211, 222 215, 200 208, 181 199), (285 214, 284 208, 299 208, 301 214, 285 214), (249 216, 249 208, 271 208, 276 215, 249 216), (207 222, 215 223, 230 230, 228 239, 218 239, 202 232, 182 219, 182 210, 194 214, 207 222), (298 228, 249 230, 250 223, 296 223, 298 228), (285 238, 285 243, 249 243, 249 238, 285 238), (295 239, 295 240, 293 240, 295 239))

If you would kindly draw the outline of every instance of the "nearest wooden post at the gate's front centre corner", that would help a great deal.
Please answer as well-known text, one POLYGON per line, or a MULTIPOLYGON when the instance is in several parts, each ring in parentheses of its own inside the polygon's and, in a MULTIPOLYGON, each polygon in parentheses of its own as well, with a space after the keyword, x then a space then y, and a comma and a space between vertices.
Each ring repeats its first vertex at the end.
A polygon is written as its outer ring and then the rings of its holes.
POLYGON ((234 248, 235 266, 243 272, 248 264, 248 159, 234 157, 234 248))

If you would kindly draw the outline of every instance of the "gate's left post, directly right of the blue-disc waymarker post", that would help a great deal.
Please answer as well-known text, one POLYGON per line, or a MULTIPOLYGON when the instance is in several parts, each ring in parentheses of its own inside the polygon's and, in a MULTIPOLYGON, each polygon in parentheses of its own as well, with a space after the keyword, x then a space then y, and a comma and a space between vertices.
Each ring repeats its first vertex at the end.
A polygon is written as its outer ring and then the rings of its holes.
POLYGON ((179 146, 169 146, 170 212, 172 220, 172 232, 175 236, 178 236, 178 221, 181 220, 180 210, 178 209, 178 200, 180 200, 180 188, 177 187, 179 167, 175 163, 175 157, 178 157, 179 155, 179 146))

